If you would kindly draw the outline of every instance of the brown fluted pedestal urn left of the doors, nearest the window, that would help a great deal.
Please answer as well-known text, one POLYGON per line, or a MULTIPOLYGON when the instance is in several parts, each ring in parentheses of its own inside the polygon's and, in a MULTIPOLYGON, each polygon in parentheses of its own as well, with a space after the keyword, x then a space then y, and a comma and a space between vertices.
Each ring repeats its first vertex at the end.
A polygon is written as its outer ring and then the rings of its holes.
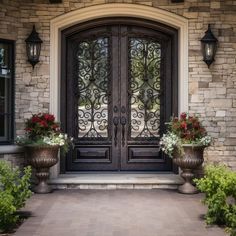
POLYGON ((27 145, 25 146, 28 163, 35 168, 38 184, 33 189, 35 193, 50 193, 52 188, 48 185, 49 169, 58 162, 59 146, 27 145))

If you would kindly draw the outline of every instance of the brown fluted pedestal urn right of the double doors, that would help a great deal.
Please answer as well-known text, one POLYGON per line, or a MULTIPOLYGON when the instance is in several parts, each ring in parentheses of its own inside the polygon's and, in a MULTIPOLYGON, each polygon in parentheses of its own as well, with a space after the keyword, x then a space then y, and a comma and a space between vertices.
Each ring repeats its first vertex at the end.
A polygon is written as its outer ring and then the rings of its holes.
POLYGON ((182 170, 181 177, 185 183, 179 186, 178 191, 185 194, 198 193, 196 187, 192 184, 194 178, 193 171, 203 163, 204 146, 183 144, 183 153, 180 154, 177 150, 174 151, 173 162, 182 170))

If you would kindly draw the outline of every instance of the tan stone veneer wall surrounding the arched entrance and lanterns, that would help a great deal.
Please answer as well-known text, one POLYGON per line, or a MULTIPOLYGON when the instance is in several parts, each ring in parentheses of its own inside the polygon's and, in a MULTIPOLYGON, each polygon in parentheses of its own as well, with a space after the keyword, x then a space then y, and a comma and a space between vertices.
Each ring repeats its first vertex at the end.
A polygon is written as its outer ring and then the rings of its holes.
POLYGON ((0 0, 0 38, 16 40, 16 133, 24 119, 49 109, 50 20, 78 8, 104 3, 135 3, 171 11, 189 20, 189 112, 201 115, 214 144, 205 153, 210 161, 236 169, 236 1, 232 0, 0 0), (20 3, 19 3, 20 2, 20 3), (219 40, 215 63, 202 62, 199 40, 208 24, 219 40), (40 63, 27 62, 25 38, 32 25, 43 40, 40 63))

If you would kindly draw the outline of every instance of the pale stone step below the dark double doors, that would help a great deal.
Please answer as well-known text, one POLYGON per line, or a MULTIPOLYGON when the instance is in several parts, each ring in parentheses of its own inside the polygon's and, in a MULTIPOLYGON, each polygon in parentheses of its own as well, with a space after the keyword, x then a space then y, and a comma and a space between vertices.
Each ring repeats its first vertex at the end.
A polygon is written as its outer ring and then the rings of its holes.
POLYGON ((78 173, 49 180, 53 189, 176 189, 182 183, 172 173, 78 173))

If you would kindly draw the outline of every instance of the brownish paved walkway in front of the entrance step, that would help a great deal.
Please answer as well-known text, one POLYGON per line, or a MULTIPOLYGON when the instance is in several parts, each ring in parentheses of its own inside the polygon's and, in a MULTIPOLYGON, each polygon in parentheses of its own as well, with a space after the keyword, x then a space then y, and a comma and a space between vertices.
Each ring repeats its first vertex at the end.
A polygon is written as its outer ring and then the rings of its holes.
POLYGON ((176 190, 57 190, 35 194, 15 236, 224 236, 206 227, 202 194, 176 190))

